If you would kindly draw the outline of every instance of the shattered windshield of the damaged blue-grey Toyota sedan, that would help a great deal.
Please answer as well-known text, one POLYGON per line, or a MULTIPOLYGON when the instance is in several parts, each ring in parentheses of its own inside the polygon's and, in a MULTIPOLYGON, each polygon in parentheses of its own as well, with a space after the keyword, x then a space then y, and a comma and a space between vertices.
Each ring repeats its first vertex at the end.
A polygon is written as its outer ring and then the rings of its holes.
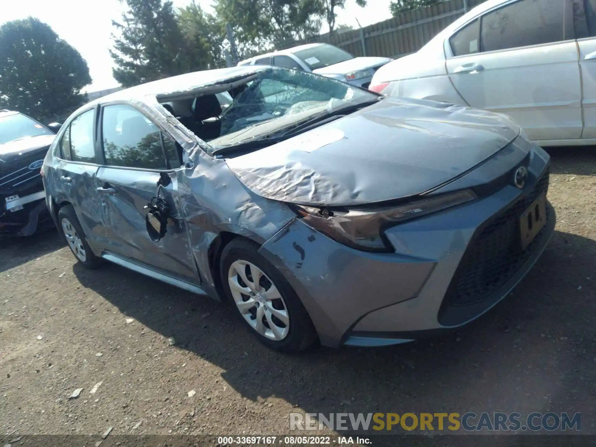
POLYGON ((271 68, 232 91, 234 100, 221 115, 215 149, 277 136, 315 117, 367 104, 378 96, 327 77, 271 68))

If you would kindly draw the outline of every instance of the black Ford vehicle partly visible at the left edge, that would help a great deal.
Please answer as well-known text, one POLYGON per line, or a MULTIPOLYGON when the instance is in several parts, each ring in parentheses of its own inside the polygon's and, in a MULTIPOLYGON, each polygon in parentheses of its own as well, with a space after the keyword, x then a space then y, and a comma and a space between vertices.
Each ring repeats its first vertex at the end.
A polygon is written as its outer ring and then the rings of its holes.
POLYGON ((51 223, 40 170, 58 129, 0 110, 0 235, 28 236, 51 223))

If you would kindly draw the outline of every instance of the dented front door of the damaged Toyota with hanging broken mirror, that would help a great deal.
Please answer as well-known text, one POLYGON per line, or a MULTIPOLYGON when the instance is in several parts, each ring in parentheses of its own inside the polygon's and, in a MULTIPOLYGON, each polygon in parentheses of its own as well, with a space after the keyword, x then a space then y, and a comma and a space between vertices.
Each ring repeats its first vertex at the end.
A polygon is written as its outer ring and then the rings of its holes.
POLYGON ((97 171, 105 221, 110 231, 110 252, 158 271, 200 284, 188 244, 184 219, 178 209, 180 169, 175 142, 140 110, 128 103, 108 104, 101 111, 103 166, 97 171), (147 233, 145 206, 157 195, 160 173, 170 184, 160 194, 173 210, 167 234, 155 243, 147 233))

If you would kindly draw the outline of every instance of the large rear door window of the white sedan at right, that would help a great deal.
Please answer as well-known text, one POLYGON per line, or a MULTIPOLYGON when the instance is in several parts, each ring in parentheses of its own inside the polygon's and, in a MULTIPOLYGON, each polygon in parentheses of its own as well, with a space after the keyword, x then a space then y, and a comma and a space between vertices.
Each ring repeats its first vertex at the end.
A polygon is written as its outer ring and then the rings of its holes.
POLYGON ((483 15, 480 50, 565 40, 565 4, 561 0, 521 0, 483 15))

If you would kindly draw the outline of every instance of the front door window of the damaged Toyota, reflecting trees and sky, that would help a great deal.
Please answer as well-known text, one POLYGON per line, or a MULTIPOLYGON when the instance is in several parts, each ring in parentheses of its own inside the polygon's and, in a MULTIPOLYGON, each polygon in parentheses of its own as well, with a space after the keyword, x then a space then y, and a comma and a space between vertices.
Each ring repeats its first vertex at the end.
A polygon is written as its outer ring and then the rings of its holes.
POLYGON ((101 123, 105 164, 167 169, 162 132, 129 105, 107 105, 101 123))

